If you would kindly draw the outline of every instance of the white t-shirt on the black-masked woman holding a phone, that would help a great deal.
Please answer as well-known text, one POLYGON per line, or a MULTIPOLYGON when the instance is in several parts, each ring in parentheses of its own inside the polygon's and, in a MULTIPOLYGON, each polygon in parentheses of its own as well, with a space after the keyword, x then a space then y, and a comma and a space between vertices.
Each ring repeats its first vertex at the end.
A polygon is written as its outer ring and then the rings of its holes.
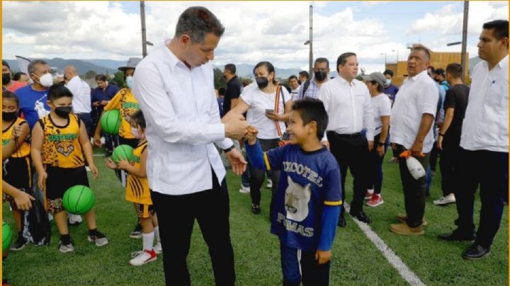
MULTIPOLYGON (((278 104, 278 114, 280 115, 285 113, 283 97, 285 97, 285 103, 292 100, 287 89, 282 86, 280 101, 278 104)), ((260 139, 278 138, 275 121, 266 117, 266 109, 275 109, 276 91, 271 94, 265 93, 261 91, 259 86, 256 84, 250 84, 243 89, 241 98, 250 107, 246 114, 246 121, 259 130, 259 135, 257 135, 257 137, 260 139)), ((285 132, 285 123, 283 121, 279 121, 278 124, 280 125, 280 130, 283 134, 283 132, 285 132)))

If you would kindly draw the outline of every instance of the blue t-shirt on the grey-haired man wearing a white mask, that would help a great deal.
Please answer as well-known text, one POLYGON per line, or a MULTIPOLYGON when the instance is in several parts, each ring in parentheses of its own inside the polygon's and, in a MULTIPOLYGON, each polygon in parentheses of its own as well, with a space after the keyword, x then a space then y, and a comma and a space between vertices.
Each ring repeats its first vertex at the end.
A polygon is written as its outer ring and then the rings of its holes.
POLYGON ((25 116, 30 129, 35 125, 35 122, 50 113, 50 105, 47 105, 47 90, 34 91, 30 84, 18 88, 14 93, 20 100, 20 111, 25 116))

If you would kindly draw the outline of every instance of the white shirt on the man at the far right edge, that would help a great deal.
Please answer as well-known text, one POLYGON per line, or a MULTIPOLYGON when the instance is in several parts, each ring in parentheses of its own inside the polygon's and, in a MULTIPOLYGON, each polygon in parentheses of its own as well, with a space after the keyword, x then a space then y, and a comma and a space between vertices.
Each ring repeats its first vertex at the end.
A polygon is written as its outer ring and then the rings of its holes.
POLYGON ((480 62, 472 71, 460 147, 509 151, 508 55, 489 71, 480 62))

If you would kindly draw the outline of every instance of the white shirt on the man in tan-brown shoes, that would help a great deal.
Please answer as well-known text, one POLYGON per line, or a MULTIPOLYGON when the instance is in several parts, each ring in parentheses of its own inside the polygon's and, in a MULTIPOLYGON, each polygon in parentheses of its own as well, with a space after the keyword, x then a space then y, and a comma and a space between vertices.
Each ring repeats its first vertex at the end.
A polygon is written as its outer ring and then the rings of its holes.
MULTIPOLYGON (((411 148, 418 135, 424 113, 435 116, 439 92, 427 71, 404 80, 395 96, 390 118, 392 143, 411 148)), ((423 142, 423 153, 429 153, 434 143, 433 124, 423 142)))

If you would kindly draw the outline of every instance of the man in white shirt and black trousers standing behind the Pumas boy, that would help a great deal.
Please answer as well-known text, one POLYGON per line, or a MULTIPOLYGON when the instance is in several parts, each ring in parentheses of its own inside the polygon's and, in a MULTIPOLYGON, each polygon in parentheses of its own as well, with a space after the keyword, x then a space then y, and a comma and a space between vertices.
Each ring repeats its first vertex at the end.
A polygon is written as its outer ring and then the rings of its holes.
MULTIPOLYGON (((336 61, 336 70, 339 76, 322 85, 318 98, 324 103, 329 116, 327 140, 331 153, 340 165, 342 190, 345 190, 347 169, 351 168, 354 196, 350 214, 368 224, 370 219, 363 212, 363 200, 367 189, 368 155, 373 148, 374 137, 370 93, 366 85, 356 79, 358 58, 355 53, 340 55, 336 61), (366 130, 365 136, 363 129, 366 130)), ((344 191, 342 200, 345 200, 344 191)), ((342 209, 340 213, 340 227, 346 226, 344 212, 342 209)))

